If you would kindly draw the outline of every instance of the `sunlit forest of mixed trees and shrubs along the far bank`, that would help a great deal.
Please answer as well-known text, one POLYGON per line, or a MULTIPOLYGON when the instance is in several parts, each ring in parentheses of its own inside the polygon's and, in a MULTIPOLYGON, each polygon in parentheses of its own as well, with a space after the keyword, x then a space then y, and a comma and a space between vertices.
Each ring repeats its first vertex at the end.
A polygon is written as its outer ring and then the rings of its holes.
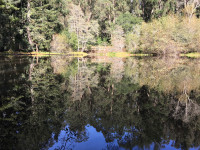
POLYGON ((200 0, 0 0, 0 52, 200 49, 200 0))

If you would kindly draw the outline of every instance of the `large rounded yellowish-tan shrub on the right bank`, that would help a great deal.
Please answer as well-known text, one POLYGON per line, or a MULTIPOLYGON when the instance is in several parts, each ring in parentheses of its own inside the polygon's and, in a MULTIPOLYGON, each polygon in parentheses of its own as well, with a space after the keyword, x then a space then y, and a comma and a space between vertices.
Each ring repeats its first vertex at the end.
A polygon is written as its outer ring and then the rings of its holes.
MULTIPOLYGON (((178 54, 200 51, 200 19, 169 15, 141 25, 138 49, 143 53, 178 54)), ((130 38, 130 35, 129 35, 130 38)), ((127 39, 128 42, 129 39, 127 39)), ((128 42, 130 43, 130 42, 128 42)))

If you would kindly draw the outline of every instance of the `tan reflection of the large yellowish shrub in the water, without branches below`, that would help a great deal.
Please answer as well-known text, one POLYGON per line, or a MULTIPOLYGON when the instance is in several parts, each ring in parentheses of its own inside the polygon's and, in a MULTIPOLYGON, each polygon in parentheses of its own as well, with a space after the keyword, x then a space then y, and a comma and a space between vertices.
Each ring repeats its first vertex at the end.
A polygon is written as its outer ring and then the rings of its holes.
POLYGON ((128 59, 126 75, 141 86, 148 85, 150 88, 168 93, 174 89, 182 92, 185 81, 187 90, 191 91, 198 89, 200 85, 198 65, 198 60, 191 62, 189 59, 146 58, 134 61, 128 59))

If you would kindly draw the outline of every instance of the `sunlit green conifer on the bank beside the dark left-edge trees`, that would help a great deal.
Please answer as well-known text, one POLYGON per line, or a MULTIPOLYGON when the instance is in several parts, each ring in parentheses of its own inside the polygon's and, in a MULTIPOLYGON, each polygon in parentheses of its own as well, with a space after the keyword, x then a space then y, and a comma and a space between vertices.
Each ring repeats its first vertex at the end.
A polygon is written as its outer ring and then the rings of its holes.
POLYGON ((52 35, 61 29, 59 4, 60 1, 55 0, 28 0, 27 34, 32 49, 49 50, 52 35))

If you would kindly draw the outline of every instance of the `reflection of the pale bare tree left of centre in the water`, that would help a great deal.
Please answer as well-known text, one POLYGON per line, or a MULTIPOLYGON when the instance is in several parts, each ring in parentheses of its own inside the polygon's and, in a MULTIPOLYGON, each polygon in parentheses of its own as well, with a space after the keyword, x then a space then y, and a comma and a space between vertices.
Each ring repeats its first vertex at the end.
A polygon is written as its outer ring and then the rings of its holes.
POLYGON ((94 74, 95 67, 88 67, 85 58, 78 58, 77 73, 70 76, 70 88, 73 91, 72 99, 81 100, 84 93, 91 94, 90 87, 98 84, 98 75, 94 74))

